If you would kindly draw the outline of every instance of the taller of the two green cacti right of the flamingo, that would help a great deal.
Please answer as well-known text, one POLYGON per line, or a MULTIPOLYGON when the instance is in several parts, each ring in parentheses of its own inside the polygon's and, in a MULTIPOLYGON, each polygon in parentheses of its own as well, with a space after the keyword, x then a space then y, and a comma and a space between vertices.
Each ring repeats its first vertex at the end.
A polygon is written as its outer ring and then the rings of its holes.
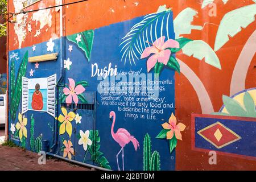
POLYGON ((143 144, 143 170, 149 171, 151 159, 151 139, 150 135, 146 134, 143 144))

